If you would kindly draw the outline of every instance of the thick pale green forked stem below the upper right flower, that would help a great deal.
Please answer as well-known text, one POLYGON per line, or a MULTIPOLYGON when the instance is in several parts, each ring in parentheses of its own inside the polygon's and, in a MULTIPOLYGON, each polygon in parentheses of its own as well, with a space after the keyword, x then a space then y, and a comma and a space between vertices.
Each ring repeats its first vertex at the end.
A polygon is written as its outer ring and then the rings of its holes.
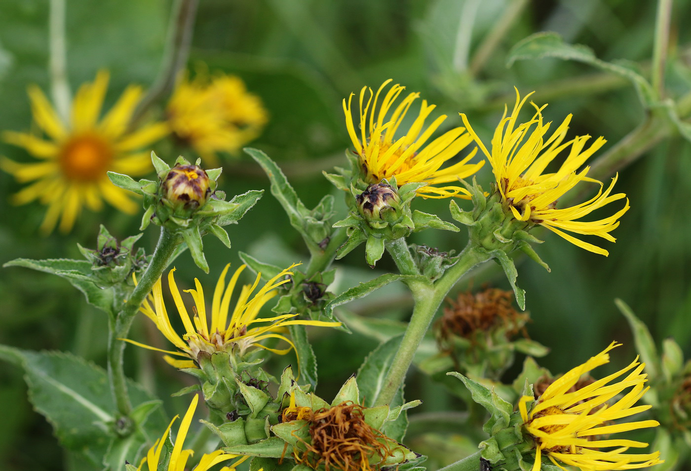
POLYGON ((408 281, 408 288, 413 293, 415 307, 413 308, 413 315, 410 317, 408 329, 406 329, 403 340, 401 340, 401 346, 384 380, 384 387, 381 389, 379 398, 377 398, 377 405, 390 404, 396 391, 403 384, 408 368, 413 362, 415 351, 422 342, 422 338, 424 338, 448 291, 471 268, 490 258, 490 255, 480 252, 468 244, 459 255, 456 264, 446 270, 446 273, 434 285, 430 284, 429 281, 408 281))

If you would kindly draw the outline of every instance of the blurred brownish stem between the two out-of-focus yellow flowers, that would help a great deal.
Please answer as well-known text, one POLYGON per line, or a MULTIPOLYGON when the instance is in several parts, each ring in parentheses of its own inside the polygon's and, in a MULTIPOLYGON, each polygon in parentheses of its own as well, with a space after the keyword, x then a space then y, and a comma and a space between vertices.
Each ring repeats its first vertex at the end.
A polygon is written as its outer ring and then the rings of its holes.
POLYGON ((135 110, 131 125, 136 124, 152 104, 173 89, 178 72, 189 57, 189 45, 192 41, 197 5, 198 0, 178 0, 176 2, 168 28, 168 44, 158 77, 149 89, 149 93, 146 93, 135 110))

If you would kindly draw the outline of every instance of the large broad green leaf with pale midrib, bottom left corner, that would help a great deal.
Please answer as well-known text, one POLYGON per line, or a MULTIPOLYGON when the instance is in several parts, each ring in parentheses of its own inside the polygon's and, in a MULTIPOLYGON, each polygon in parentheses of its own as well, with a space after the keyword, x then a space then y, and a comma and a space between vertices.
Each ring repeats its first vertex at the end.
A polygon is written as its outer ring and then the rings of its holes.
MULTIPOLYGON (((23 367, 29 400, 53 425, 63 447, 99 469, 104 456, 108 459, 123 450, 132 453, 127 456, 129 461, 138 462, 142 438, 137 444, 127 437, 116 438, 113 432, 115 405, 104 369, 70 353, 25 351, 3 345, 0 359, 23 367)), ((142 387, 129 382, 128 388, 134 412, 142 421, 138 433, 153 443, 167 427, 167 420, 162 412, 151 413, 157 403, 151 402, 155 398, 142 387)), ((113 471, 120 469, 124 469, 124 461, 113 471)))

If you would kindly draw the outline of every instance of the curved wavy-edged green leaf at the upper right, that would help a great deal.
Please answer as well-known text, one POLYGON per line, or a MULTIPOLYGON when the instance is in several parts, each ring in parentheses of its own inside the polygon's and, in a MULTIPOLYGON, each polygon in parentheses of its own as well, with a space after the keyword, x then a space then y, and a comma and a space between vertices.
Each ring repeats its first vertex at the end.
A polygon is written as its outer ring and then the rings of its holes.
POLYGON ((542 59, 543 57, 556 57, 558 59, 584 62, 603 71, 614 73, 633 82, 645 107, 650 107, 657 101, 656 93, 643 75, 637 73, 632 68, 598 59, 593 50, 587 46, 567 44, 557 33, 536 33, 522 39, 522 41, 518 41, 509 51, 507 66, 510 67, 517 60, 542 59))

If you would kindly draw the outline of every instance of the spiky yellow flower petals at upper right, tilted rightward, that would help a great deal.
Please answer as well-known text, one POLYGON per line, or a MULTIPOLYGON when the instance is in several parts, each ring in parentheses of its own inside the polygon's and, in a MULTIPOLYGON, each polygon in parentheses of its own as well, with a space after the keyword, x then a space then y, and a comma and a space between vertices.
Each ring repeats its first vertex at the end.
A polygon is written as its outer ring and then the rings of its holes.
POLYGON ((603 192, 603 183, 587 176, 590 167, 584 167, 578 172, 585 160, 607 141, 602 137, 597 138, 587 149, 585 145, 590 136, 576 136, 562 143, 569 129, 571 115, 567 116, 549 138, 545 138, 551 124, 542 123, 542 109, 547 105, 538 107, 533 102, 531 104, 536 109, 533 118, 529 122, 517 125, 518 113, 530 95, 532 93, 521 100, 518 89, 516 90, 515 106, 509 117, 506 109, 504 110, 504 116, 492 138, 491 153, 477 137, 466 116, 461 114, 468 133, 471 133, 491 163, 502 198, 516 219, 543 225, 580 248, 607 256, 607 250, 562 232, 567 230, 576 234, 596 235, 611 242, 616 241, 609 232, 619 225, 618 219, 629 209, 628 199, 621 210, 605 219, 576 221, 612 201, 626 197, 623 193, 611 194, 617 176, 612 178, 612 183, 603 192), (568 156, 560 168, 553 173, 543 173, 547 165, 566 149, 568 156), (557 200, 580 181, 598 183, 598 194, 585 203, 558 209, 557 200))

